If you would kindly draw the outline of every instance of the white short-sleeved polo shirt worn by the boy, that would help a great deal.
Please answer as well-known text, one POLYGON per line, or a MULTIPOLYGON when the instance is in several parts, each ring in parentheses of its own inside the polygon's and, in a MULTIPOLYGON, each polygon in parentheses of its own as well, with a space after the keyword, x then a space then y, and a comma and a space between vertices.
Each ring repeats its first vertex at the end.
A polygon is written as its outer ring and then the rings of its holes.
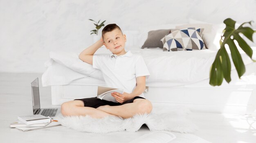
MULTIPOLYGON (((92 67, 101 70, 106 86, 124 89, 132 93, 136 87, 138 76, 149 76, 148 68, 141 55, 130 51, 124 55, 95 54, 92 58, 92 67)), ((138 95, 144 97, 144 94, 138 95)))

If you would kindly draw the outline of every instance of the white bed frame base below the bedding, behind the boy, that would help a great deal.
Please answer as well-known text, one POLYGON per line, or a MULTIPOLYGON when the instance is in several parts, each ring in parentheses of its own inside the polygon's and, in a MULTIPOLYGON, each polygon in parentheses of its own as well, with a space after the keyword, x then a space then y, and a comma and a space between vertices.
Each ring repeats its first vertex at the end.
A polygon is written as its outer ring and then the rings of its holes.
MULTIPOLYGON (((52 86, 52 104, 90 98, 97 95, 97 85, 52 86)), ((256 114, 256 86, 226 87, 148 87, 145 97, 153 103, 186 106, 193 112, 256 114)))

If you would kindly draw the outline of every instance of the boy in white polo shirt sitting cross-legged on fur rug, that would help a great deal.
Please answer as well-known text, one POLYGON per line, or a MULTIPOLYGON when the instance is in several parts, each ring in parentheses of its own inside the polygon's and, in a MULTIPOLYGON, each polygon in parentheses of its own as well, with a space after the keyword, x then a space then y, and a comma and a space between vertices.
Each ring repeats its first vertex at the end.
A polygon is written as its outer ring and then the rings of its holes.
POLYGON ((135 114, 151 112, 152 104, 143 95, 148 69, 142 56, 125 51, 125 42, 126 35, 123 35, 119 26, 108 24, 102 30, 101 39, 79 54, 82 61, 102 71, 108 87, 124 89, 124 94, 112 93, 118 103, 96 97, 76 99, 61 105, 64 116, 90 115, 103 118, 116 115, 129 118, 135 114), (103 44, 112 54, 94 55, 103 44))

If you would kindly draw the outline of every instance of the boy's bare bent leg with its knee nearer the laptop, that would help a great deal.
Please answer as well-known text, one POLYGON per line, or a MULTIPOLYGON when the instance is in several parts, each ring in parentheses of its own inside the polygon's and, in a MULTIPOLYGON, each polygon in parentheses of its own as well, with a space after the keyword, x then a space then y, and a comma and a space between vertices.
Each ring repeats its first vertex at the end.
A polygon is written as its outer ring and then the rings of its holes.
POLYGON ((63 103, 61 105, 61 113, 63 116, 90 115, 93 118, 103 118, 111 115, 96 108, 84 107, 84 103, 81 100, 73 100, 63 103))

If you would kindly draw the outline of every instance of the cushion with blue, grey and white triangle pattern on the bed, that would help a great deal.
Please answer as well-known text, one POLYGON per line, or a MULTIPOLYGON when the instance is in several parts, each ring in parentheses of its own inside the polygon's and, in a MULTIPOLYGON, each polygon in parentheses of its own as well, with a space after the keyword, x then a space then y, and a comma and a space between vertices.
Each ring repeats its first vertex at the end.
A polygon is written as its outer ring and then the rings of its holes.
POLYGON ((161 41, 164 44, 163 50, 166 51, 191 51, 206 49, 201 38, 203 28, 194 27, 171 31, 161 41))

